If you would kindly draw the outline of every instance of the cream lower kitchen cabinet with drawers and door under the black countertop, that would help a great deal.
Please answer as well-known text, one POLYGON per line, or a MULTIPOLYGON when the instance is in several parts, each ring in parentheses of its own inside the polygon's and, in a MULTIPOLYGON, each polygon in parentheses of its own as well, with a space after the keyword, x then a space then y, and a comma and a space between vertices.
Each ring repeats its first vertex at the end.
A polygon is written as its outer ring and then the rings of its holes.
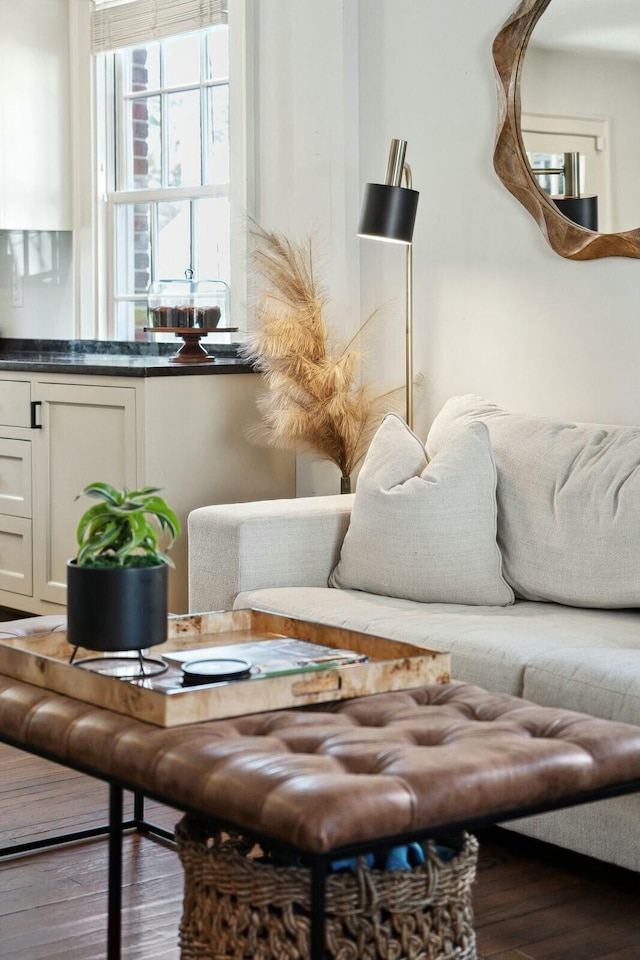
POLYGON ((63 613, 66 562, 93 480, 154 485, 183 532, 169 606, 188 611, 187 516, 210 503, 295 495, 290 454, 251 444, 260 378, 83 376, 0 379, 0 605, 63 613), (8 422, 5 422, 8 421, 8 422))

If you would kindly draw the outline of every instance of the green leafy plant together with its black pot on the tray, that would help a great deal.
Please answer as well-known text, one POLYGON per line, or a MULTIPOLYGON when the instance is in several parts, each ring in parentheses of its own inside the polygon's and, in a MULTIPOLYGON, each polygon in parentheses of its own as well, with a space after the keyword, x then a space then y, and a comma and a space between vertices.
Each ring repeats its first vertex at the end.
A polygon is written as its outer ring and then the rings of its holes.
POLYGON ((167 639, 167 556, 180 523, 159 487, 90 483, 67 563, 67 639, 89 650, 143 650, 167 639))

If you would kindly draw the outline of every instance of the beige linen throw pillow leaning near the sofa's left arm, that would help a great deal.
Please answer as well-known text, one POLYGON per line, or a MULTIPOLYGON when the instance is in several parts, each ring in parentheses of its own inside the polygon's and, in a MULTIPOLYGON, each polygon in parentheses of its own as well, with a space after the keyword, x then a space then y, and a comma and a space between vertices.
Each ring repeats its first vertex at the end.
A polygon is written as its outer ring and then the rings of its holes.
POLYGON ((495 490, 483 423, 469 424, 428 462, 405 422, 387 414, 360 471, 329 586, 425 603, 513 603, 496 543, 495 490))

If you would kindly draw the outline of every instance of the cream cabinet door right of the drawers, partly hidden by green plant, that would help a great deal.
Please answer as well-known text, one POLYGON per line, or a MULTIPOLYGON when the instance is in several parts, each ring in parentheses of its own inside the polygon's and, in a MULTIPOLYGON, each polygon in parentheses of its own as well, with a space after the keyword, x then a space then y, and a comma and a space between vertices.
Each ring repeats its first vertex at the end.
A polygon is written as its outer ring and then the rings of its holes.
POLYGON ((78 495, 94 480, 136 487, 136 391, 37 383, 35 395, 42 432, 34 451, 34 592, 66 603, 67 560, 77 553, 78 520, 92 504, 78 495))

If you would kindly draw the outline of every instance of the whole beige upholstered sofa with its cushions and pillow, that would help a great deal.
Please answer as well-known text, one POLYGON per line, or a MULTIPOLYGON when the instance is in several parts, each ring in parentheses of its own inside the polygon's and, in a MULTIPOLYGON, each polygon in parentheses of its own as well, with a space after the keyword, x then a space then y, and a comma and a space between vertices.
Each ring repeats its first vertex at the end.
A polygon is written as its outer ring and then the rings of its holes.
MULTIPOLYGON (((354 495, 194 511, 191 609, 262 607, 447 650, 458 679, 640 725, 640 429, 465 396, 425 446, 404 431, 383 423, 354 495)), ((639 818, 626 797, 510 826, 640 871, 639 818)))

